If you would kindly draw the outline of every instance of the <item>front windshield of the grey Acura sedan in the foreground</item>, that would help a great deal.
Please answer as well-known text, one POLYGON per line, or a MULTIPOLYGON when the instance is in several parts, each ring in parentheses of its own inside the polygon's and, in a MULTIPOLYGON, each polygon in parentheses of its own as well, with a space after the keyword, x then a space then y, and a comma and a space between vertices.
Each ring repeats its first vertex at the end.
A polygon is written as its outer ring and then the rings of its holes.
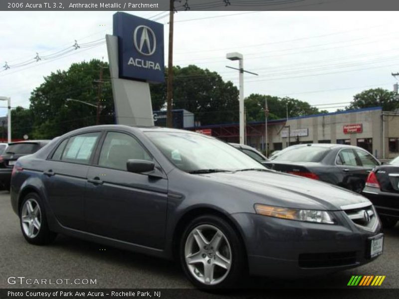
POLYGON ((187 172, 266 169, 240 150, 211 137, 174 132, 146 132, 146 135, 176 167, 187 172))

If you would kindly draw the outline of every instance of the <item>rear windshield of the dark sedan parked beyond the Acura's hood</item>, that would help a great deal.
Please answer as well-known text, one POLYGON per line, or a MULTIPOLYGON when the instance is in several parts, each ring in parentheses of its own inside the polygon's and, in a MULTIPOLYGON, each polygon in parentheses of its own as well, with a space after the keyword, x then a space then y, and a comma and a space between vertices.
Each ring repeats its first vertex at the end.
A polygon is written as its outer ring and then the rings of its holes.
POLYGON ((273 160, 288 162, 320 162, 330 149, 322 147, 294 147, 281 151, 273 160))

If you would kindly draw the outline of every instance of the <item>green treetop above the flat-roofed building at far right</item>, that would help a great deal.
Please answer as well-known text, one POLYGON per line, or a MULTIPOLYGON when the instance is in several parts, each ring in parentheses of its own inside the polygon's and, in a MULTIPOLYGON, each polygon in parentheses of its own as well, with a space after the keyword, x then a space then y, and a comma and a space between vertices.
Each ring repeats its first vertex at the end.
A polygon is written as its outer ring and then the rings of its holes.
POLYGON ((384 111, 394 111, 399 108, 399 100, 395 92, 375 88, 362 91, 353 97, 346 110, 382 106, 384 111))

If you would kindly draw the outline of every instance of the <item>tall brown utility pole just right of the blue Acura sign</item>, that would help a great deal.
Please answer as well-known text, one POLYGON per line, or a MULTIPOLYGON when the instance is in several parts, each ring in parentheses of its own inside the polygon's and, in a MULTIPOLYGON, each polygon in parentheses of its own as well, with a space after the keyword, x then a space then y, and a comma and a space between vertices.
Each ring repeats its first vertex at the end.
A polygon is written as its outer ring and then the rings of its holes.
POLYGON ((167 85, 167 106, 166 126, 173 128, 172 98, 173 98, 173 15, 175 13, 175 0, 170 0, 169 11, 169 52, 168 52, 168 85, 167 85))

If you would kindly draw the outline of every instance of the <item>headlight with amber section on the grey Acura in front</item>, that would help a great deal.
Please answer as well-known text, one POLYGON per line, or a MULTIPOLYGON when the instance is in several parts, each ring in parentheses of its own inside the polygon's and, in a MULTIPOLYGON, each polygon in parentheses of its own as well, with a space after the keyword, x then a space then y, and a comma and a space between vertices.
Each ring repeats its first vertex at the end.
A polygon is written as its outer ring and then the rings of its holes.
POLYGON ((255 204, 255 211, 260 215, 281 219, 334 224, 333 218, 327 211, 282 208, 259 203, 255 204))

